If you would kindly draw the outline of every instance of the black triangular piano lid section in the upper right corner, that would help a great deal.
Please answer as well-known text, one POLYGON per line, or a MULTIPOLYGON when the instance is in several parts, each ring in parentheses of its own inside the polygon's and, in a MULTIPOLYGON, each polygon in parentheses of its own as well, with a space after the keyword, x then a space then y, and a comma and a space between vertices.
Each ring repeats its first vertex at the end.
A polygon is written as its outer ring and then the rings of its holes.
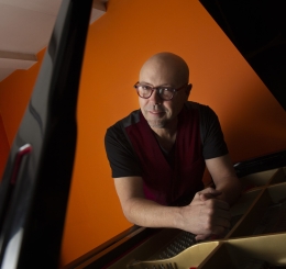
POLYGON ((286 110, 285 0, 200 0, 286 110))

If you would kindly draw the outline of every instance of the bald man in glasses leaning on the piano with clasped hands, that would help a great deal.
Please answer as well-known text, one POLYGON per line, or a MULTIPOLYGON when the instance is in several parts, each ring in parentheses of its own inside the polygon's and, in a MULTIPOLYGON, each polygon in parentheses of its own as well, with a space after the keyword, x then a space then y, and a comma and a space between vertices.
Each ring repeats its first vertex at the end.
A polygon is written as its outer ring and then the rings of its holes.
POLYGON ((179 56, 151 57, 134 86, 141 110, 107 131, 106 149, 131 223, 180 228, 205 239, 230 227, 229 208, 241 186, 215 112, 187 101, 188 81, 179 56), (216 189, 204 189, 205 166, 216 189))

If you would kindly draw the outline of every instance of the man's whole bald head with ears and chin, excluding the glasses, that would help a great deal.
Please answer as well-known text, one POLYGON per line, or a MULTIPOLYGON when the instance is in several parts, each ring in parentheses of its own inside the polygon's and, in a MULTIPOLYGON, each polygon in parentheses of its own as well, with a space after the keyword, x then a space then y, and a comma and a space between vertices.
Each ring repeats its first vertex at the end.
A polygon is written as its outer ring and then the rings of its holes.
POLYGON ((172 53, 156 54, 142 66, 139 78, 141 85, 179 89, 170 100, 162 99, 157 91, 153 91, 150 98, 139 98, 143 116, 157 134, 174 134, 176 131, 177 115, 188 100, 191 89, 188 80, 189 68, 186 61, 172 53))

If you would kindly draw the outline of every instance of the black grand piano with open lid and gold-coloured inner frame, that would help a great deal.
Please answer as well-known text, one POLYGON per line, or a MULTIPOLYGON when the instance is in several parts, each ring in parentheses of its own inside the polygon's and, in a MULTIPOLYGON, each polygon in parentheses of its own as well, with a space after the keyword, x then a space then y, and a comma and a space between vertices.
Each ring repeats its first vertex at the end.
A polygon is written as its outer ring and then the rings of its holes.
MULTIPOLYGON (((285 110, 284 1, 200 2, 285 110)), ((0 186, 1 269, 58 267, 90 9, 89 0, 63 1, 48 54, 12 146, 0 186), (59 70, 65 70, 64 76, 59 70), (47 227, 50 232, 43 233, 47 227)), ((220 238, 198 243, 183 231, 133 226, 64 269, 285 268, 286 148, 242 160, 234 169, 244 191, 231 209, 230 231, 220 238)))

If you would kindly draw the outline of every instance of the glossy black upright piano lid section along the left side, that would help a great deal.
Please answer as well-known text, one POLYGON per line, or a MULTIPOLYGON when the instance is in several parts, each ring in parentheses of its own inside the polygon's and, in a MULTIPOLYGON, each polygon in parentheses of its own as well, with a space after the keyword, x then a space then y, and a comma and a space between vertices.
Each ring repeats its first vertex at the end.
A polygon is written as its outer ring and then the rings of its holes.
POLYGON ((0 186, 0 268, 57 268, 92 0, 63 0, 0 186))

